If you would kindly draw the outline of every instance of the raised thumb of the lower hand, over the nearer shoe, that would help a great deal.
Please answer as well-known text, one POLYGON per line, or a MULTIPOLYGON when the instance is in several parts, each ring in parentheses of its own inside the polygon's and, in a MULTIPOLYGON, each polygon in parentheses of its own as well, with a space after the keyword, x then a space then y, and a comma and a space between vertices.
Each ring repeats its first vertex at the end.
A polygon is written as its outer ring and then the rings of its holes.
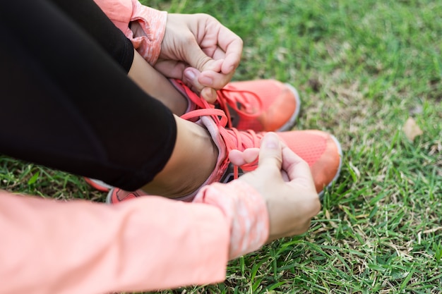
POLYGON ((274 169, 278 173, 282 166, 282 144, 280 138, 273 132, 264 135, 259 151, 258 167, 274 169))

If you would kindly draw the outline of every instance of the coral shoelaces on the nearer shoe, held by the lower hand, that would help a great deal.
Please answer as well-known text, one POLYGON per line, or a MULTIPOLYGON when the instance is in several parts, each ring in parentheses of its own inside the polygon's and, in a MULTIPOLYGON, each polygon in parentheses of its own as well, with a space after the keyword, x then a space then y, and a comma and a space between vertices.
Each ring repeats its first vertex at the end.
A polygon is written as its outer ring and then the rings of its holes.
MULTIPOLYGON (((198 97, 198 95, 192 92, 188 87, 184 87, 184 90, 186 91, 189 99, 191 99, 195 103, 196 101, 198 101, 198 103, 196 104, 198 106, 201 104, 202 107, 201 109, 196 109, 194 111, 189 111, 188 113, 183 114, 181 118, 186 120, 190 120, 191 118, 196 118, 199 116, 211 116, 213 118, 213 121, 215 121, 215 125, 217 125, 218 130, 220 130, 220 135, 224 140, 227 148, 227 157, 222 164, 222 166, 224 166, 224 169, 229 164, 228 154, 231 150, 239 149, 241 151, 244 151, 244 149, 256 147, 259 145, 261 137, 263 136, 261 133, 257 134, 253 130, 239 131, 236 128, 225 128, 229 121, 225 111, 213 108, 213 106, 210 106, 210 104, 208 104, 205 99, 198 97)), ((244 164, 240 167, 243 171, 253 171, 254 169, 256 169, 257 161, 258 159, 251 162, 250 164, 244 164)), ((235 179, 238 178, 238 173, 239 167, 234 166, 235 179)))

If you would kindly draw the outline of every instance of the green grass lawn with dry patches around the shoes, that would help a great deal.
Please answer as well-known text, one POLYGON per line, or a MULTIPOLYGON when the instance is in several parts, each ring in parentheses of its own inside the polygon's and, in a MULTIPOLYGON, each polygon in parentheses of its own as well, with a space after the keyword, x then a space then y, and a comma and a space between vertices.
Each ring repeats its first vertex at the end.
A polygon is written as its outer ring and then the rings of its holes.
MULTIPOLYGON (((224 283, 162 293, 442 293, 441 1, 148 3, 236 32, 234 79, 292 83, 295 128, 330 131, 345 154, 308 233, 230 262, 224 283), (423 131, 413 142, 409 117, 423 131)), ((104 199, 77 176, 8 157, 0 187, 104 199)))

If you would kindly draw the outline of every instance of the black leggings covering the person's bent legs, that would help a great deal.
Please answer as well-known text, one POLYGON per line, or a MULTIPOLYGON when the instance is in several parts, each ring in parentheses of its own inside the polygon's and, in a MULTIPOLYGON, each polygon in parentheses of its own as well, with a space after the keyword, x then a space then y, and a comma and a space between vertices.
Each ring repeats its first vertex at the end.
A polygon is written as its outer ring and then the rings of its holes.
POLYGON ((92 0, 1 1, 0 153, 136 190, 162 170, 172 112, 127 72, 129 39, 92 0))

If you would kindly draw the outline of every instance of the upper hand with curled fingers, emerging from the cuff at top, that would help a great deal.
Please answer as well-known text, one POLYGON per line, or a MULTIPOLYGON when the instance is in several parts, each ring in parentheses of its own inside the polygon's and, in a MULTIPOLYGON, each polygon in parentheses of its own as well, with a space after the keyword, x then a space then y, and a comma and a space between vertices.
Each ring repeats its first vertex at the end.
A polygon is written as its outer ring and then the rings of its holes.
POLYGON ((155 68, 213 103, 215 90, 232 79, 242 46, 241 38, 212 16, 169 13, 155 68))

